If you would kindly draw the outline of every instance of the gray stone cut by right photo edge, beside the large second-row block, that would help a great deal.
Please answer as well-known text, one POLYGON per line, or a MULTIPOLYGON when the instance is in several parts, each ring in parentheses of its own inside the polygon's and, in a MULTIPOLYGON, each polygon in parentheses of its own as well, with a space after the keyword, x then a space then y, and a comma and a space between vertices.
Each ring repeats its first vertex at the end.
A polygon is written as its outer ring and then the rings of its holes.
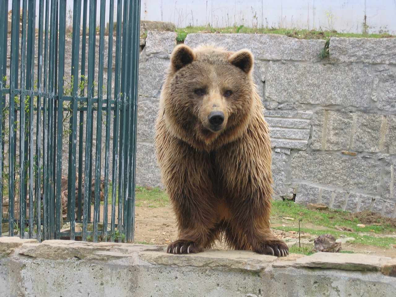
POLYGON ((379 109, 396 112, 396 72, 381 73, 380 88, 377 88, 379 109))

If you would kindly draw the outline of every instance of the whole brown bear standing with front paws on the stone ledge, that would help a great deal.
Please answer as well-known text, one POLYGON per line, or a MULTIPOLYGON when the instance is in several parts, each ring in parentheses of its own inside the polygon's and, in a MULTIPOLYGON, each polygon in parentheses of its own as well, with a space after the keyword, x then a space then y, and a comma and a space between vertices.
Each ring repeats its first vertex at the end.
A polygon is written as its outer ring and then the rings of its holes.
POLYGON ((160 96, 156 154, 178 239, 168 253, 229 247, 286 256, 270 230, 271 144, 243 49, 177 46, 160 96))

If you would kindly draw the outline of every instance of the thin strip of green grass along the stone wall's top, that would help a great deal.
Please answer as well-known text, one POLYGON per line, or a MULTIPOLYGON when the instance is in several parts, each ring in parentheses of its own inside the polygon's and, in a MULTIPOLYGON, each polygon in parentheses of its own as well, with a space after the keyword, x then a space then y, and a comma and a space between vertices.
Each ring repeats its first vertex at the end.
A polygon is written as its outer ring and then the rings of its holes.
POLYGON ((246 34, 279 34, 298 39, 325 39, 331 37, 356 37, 356 38, 388 38, 394 37, 388 33, 381 34, 356 34, 339 33, 335 30, 307 30, 307 29, 284 29, 284 28, 249 28, 245 26, 234 26, 225 28, 213 28, 211 26, 177 28, 177 41, 183 42, 190 33, 246 33, 246 34))

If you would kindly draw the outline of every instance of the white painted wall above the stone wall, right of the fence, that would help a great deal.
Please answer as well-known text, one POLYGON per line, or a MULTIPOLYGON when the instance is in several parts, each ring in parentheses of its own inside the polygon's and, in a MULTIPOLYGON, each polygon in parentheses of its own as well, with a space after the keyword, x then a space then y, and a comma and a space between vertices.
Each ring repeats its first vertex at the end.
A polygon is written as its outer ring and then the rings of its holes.
POLYGON ((141 19, 177 27, 283 27, 396 34, 396 0, 141 0, 141 19))

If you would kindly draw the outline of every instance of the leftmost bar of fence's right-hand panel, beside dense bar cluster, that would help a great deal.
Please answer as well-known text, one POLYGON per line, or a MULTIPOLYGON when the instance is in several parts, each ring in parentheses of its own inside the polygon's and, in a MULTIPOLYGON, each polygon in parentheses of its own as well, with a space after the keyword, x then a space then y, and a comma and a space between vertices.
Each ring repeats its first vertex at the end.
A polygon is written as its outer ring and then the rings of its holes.
POLYGON ((65 75, 65 34, 66 2, 59 2, 59 60, 58 60, 58 110, 57 110, 57 147, 56 147, 56 189, 55 189, 55 237, 60 238, 62 201, 62 138, 63 138, 63 76, 65 75))

